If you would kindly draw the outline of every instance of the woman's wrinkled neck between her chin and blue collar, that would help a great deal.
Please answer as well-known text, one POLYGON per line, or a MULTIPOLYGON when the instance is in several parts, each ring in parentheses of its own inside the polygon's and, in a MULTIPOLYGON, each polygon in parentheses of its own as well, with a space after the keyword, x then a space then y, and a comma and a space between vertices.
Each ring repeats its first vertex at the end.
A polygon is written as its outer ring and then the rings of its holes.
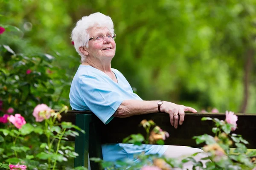
POLYGON ((82 65, 90 65, 100 71, 103 71, 104 73, 111 72, 111 60, 97 59, 88 56, 82 65))

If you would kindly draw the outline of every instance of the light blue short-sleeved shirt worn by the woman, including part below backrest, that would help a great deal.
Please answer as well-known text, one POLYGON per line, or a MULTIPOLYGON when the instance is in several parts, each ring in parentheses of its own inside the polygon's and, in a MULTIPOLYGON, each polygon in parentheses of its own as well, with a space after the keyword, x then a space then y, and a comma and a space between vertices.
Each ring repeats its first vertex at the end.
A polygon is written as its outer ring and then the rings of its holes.
MULTIPOLYGON (((91 67, 80 65, 71 83, 70 105, 73 110, 92 111, 103 123, 113 119, 113 113, 124 100, 142 100, 134 94, 131 85, 116 69, 111 68, 118 83, 114 82, 104 72, 91 67)), ((105 161, 134 159, 134 154, 158 153, 162 155, 168 146, 133 144, 103 144, 102 153, 105 161)), ((134 160, 135 161, 135 160, 134 160)))

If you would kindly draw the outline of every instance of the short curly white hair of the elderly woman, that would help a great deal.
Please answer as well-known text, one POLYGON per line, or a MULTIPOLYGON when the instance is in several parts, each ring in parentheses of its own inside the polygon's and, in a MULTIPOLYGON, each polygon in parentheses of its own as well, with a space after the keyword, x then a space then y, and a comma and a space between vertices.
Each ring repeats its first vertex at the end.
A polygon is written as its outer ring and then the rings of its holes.
POLYGON ((89 16, 82 17, 76 23, 76 27, 73 28, 71 33, 72 41, 74 42, 74 47, 78 54, 81 56, 81 62, 84 62, 86 56, 84 56, 80 51, 79 47, 86 46, 88 48, 88 40, 89 40, 89 33, 88 29, 97 26, 99 28, 107 27, 109 31, 114 32, 114 24, 111 20, 111 17, 106 16, 100 12, 96 12, 90 14, 89 16))

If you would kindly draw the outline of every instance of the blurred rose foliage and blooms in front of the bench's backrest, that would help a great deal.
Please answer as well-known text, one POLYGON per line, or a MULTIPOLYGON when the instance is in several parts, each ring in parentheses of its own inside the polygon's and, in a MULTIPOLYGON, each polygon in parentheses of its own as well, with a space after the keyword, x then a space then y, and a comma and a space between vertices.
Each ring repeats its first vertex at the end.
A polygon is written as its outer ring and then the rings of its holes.
MULTIPOLYGON (((205 153, 207 153, 208 157, 204 157, 201 160, 194 159, 199 153, 194 153, 193 155, 182 159, 181 161, 177 158, 167 158, 165 156, 159 156, 158 154, 147 155, 145 153, 141 153, 139 155, 135 155, 134 159, 136 161, 131 160, 118 160, 115 162, 103 161, 99 158, 91 158, 90 160, 100 162, 103 167, 108 170, 123 170, 123 169, 131 169, 131 170, 150 170, 150 167, 158 167, 160 170, 171 170, 172 167, 182 168, 183 164, 191 161, 193 164, 193 170, 195 168, 201 168, 202 170, 251 170, 256 167, 256 159, 253 158, 256 156, 255 151, 247 151, 246 144, 249 144, 245 139, 242 138, 241 135, 231 133, 235 130, 236 121, 230 122, 230 119, 237 121, 237 116, 233 114, 233 112, 226 113, 226 120, 219 120, 217 118, 203 117, 202 121, 212 120, 215 122, 215 127, 212 128, 212 132, 215 133, 215 136, 210 136, 208 134, 204 134, 201 136, 194 136, 196 144, 205 143, 206 145, 202 148, 205 153), (236 149, 233 152, 230 152, 231 147, 235 147, 236 149), (206 161, 203 163, 203 161, 206 161)), ((142 143, 148 144, 151 136, 156 135, 156 128, 154 127, 151 131, 151 135, 149 136, 149 129, 152 125, 155 126, 153 121, 143 120, 141 125, 145 128, 147 132, 147 140, 144 139, 144 136, 141 134, 132 134, 123 140, 125 143, 133 143, 134 145, 141 145, 142 143), (154 133, 152 133, 154 132, 154 133), (149 137, 148 137, 149 136, 149 137)), ((157 133, 161 134, 161 137, 158 140, 163 141, 165 136, 163 130, 160 127, 157 127, 157 133)), ((164 144, 158 143, 157 144, 164 144)), ((151 143, 151 144, 155 144, 151 143)))

